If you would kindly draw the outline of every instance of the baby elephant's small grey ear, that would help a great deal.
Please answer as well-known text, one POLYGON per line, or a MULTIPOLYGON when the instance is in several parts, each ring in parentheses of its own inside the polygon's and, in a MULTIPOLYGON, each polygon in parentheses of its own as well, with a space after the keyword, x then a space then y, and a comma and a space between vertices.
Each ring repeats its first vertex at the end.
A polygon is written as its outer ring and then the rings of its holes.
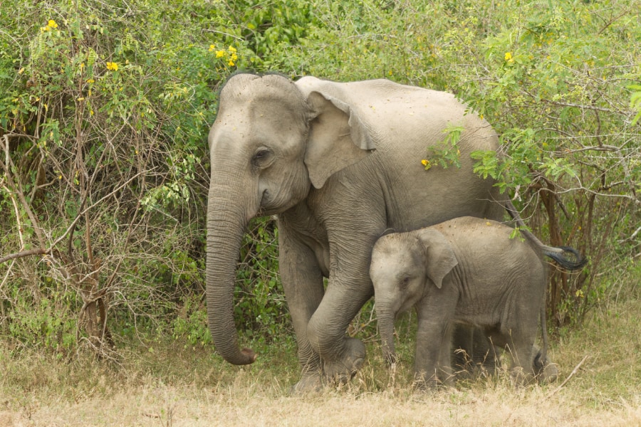
POLYGON ((433 228, 417 231, 419 241, 425 248, 425 273, 437 288, 441 288, 443 279, 459 261, 454 249, 442 233, 433 228))

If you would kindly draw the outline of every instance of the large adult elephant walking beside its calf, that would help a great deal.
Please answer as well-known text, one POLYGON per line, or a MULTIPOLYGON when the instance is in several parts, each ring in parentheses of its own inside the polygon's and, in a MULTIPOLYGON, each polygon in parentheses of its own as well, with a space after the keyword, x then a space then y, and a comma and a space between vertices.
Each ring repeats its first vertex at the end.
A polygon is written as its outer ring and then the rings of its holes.
POLYGON ((232 364, 256 359, 239 349, 234 327, 236 260, 248 221, 277 214, 281 279, 302 368, 296 389, 353 374, 365 346, 345 330, 373 295, 373 243, 388 228, 409 231, 458 216, 500 221, 504 203, 494 181, 474 174, 469 156, 498 147, 488 122, 449 93, 387 80, 229 78, 209 132, 207 314, 218 352, 232 364), (427 148, 449 126, 464 128, 460 167, 426 171, 427 148))

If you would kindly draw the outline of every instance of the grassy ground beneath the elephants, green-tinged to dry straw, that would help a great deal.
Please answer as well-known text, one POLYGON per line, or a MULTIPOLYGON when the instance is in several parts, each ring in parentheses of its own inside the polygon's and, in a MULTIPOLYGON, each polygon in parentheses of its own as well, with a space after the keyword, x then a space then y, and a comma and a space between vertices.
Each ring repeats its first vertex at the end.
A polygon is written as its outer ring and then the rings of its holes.
POLYGON ((119 363, 5 348, 0 427, 641 425, 640 320, 640 300, 612 302, 562 331, 552 339, 556 383, 514 390, 498 374, 435 394, 408 386, 409 344, 395 375, 371 342, 350 384, 314 396, 288 395, 298 376, 291 346, 259 349, 249 367, 176 342, 132 344, 119 363))

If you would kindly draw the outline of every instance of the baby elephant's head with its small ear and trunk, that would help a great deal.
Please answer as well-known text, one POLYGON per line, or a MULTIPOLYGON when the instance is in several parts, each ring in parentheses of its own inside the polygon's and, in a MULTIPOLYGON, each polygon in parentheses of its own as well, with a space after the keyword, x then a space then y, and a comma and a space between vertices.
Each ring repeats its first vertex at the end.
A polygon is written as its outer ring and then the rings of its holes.
POLYGON ((431 228, 379 238, 372 251, 376 317, 385 360, 396 360, 394 321, 442 282, 458 261, 449 241, 431 228))

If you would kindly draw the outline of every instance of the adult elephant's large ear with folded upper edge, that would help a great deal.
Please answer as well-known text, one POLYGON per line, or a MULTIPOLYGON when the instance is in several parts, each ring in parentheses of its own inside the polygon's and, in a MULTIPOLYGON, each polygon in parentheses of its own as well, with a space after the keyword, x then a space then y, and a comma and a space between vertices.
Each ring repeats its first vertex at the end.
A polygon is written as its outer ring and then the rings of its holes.
POLYGON ((314 187, 345 167, 362 160, 375 149, 370 132, 345 102, 313 91, 308 95, 313 110, 305 164, 314 187))

